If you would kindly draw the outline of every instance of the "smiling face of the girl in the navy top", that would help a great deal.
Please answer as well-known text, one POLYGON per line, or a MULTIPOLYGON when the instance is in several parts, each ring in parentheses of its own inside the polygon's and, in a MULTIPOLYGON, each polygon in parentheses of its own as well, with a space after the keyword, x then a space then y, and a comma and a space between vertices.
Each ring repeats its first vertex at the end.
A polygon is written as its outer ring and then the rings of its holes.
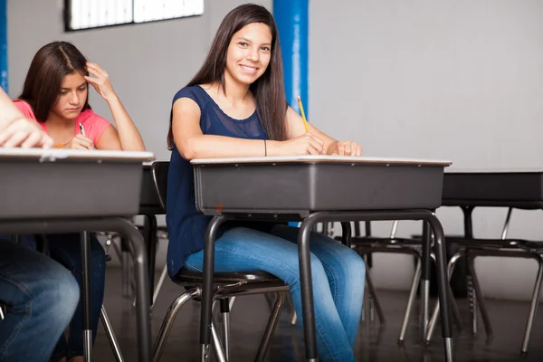
POLYGON ((268 68, 271 59, 270 27, 252 23, 233 34, 226 54, 225 75, 242 84, 251 85, 268 68))

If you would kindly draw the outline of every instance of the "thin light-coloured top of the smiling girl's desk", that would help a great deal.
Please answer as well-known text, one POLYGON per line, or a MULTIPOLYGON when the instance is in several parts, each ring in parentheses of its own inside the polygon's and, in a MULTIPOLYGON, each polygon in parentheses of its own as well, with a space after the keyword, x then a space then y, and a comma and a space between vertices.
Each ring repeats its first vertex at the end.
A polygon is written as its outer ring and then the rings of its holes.
POLYGON ((452 161, 424 158, 392 158, 392 157, 351 157, 351 156, 274 156, 274 157, 227 157, 227 158, 196 158, 191 161, 198 165, 222 164, 270 164, 270 163, 334 163, 334 164, 395 164, 395 165, 428 165, 449 167, 452 161))

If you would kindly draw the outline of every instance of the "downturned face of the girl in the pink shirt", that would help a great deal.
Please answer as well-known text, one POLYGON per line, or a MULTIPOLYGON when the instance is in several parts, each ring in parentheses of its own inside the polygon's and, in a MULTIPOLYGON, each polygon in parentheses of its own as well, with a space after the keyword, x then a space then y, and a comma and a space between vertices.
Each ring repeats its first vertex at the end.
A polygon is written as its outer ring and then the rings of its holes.
POLYGON ((73 119, 80 115, 87 100, 87 81, 80 71, 66 74, 62 79, 59 97, 52 106, 52 113, 62 119, 73 119))

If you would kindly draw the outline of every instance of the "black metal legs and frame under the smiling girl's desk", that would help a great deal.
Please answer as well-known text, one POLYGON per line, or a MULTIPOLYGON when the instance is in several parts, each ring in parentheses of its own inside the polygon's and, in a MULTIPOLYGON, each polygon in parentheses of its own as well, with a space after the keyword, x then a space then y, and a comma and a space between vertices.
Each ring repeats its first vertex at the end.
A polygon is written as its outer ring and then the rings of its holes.
MULTIPOLYGON (((302 313, 305 337, 305 355, 310 362, 318 361, 317 338, 315 332, 315 314, 313 308, 313 289, 311 285, 310 268, 310 232, 313 226, 324 222, 359 222, 359 221, 386 221, 386 220, 423 220, 433 230, 434 247, 437 264, 439 300, 442 306, 442 333, 444 339, 445 359, 452 361, 452 324, 449 300, 447 298, 447 263, 445 260, 445 243, 443 226, 433 214, 428 210, 376 210, 376 211, 319 211, 307 213, 304 215, 293 214, 217 214, 207 226, 205 233, 205 253, 204 253, 204 284, 202 296, 202 311, 200 319, 200 343, 202 344, 202 360, 209 359, 209 345, 211 342, 211 319, 213 303, 213 275, 214 275, 214 242, 216 233, 221 224, 226 220, 299 220, 301 216, 302 224, 298 235, 298 251, 300 255, 300 287, 302 294, 302 313)), ((350 224, 349 229, 350 231, 350 224)), ((424 238, 423 264, 430 264, 431 240, 424 238)))

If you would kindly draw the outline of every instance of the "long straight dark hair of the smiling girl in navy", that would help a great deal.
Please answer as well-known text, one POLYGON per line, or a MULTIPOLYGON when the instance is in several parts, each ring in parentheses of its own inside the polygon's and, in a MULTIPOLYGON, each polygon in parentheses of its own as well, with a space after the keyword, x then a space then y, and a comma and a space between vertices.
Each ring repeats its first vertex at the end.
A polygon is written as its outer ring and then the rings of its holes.
MULTIPOLYGON (((284 119, 287 113, 287 98, 283 81, 281 46, 277 25, 273 15, 263 6, 254 4, 240 5, 228 13, 215 34, 211 49, 205 62, 188 82, 187 87, 197 84, 219 83, 224 90, 224 68, 226 53, 234 33, 243 26, 252 23, 262 23, 271 31, 271 60, 262 76, 251 84, 250 89, 256 100, 256 110, 268 138, 273 140, 286 139, 284 119)), ((167 147, 174 148, 172 132, 172 116, 167 133, 167 147)))

